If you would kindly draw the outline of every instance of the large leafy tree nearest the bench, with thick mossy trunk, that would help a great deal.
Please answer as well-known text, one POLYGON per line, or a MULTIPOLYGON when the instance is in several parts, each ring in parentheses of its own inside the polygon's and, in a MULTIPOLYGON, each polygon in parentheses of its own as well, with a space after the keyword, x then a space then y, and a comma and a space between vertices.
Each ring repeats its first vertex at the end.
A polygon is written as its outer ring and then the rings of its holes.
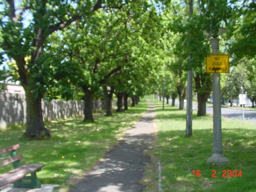
POLYGON ((26 93, 27 128, 25 135, 32 139, 49 137, 44 127, 41 100, 45 92, 47 64, 42 62, 45 40, 83 15, 101 8, 102 0, 90 1, 3 1, 1 17, 1 47, 10 59, 16 61, 20 83, 26 93), (31 19, 26 18, 26 14, 31 19), (29 60, 25 60, 28 57, 29 60), (46 69, 44 71, 44 69, 46 69))

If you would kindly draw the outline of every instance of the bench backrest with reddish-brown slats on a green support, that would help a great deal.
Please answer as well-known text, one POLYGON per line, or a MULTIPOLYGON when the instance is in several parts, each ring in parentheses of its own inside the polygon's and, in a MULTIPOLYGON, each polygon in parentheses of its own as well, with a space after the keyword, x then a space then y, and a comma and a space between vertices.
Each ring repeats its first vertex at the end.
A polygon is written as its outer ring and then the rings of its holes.
POLYGON ((7 148, 4 148, 4 149, 0 149, 0 154, 10 152, 10 155, 11 155, 10 158, 5 159, 5 160, 0 162, 0 167, 2 167, 4 165, 7 165, 7 164, 10 164, 10 163, 13 164, 14 168, 18 168, 18 167, 21 166, 19 160, 22 158, 22 155, 17 156, 16 149, 18 149, 18 148, 20 148, 19 144, 13 145, 11 147, 7 147, 7 148))

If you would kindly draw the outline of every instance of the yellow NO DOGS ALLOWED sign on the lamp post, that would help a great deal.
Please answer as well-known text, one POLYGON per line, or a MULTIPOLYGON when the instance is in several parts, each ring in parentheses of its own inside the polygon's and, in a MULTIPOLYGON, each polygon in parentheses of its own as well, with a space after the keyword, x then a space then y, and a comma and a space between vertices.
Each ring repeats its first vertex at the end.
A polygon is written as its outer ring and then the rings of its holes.
POLYGON ((229 73, 228 55, 206 57, 206 73, 229 73))

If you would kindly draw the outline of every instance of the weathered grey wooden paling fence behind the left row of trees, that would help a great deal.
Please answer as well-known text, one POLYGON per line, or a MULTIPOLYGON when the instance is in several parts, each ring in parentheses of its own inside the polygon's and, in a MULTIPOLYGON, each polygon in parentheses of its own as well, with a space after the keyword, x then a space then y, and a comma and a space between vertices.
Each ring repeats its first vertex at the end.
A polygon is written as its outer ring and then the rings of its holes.
MULTIPOLYGON (((113 107, 116 103, 112 102, 113 107)), ((104 109, 104 101, 95 100, 94 110, 104 109)), ((42 101, 44 121, 81 116, 84 114, 84 101, 42 101)), ((0 100, 0 129, 13 124, 26 123, 26 101, 0 100)))

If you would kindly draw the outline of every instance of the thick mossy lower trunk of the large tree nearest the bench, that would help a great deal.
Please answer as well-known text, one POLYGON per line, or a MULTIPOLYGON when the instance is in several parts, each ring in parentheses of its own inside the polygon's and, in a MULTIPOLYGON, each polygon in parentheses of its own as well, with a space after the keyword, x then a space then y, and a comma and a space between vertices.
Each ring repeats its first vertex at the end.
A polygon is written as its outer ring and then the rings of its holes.
POLYGON ((27 129, 25 136, 30 139, 50 137, 50 131, 44 127, 42 97, 36 98, 28 86, 24 87, 26 93, 27 129))

